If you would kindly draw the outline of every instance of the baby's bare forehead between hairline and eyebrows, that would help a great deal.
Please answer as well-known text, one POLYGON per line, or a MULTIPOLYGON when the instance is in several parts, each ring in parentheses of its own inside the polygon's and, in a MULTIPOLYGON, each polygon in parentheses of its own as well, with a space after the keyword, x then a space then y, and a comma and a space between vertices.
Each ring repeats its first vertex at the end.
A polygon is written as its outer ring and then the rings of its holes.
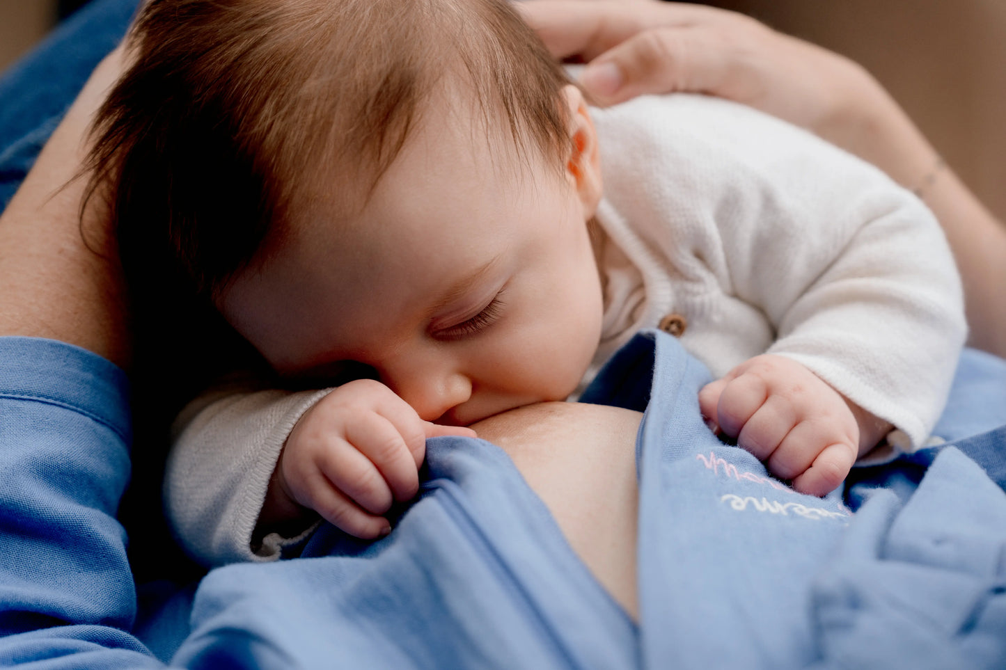
POLYGON ((372 183, 352 168, 347 178, 334 173, 327 192, 294 212, 274 253, 344 266, 354 273, 347 281, 365 285, 386 272, 463 260, 572 188, 543 156, 521 156, 470 122, 425 117, 372 183))

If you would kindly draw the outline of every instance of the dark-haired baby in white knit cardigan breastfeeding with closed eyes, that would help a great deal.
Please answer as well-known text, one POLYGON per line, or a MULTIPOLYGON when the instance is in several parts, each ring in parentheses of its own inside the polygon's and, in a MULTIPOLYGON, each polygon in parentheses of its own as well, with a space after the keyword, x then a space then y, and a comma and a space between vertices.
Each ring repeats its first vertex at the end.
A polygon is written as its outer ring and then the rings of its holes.
POLYGON ((801 131, 703 98, 590 109, 503 0, 152 0, 131 39, 94 153, 127 272, 325 386, 179 417, 168 510, 204 562, 275 558, 316 513, 388 532, 427 438, 567 398, 641 328, 802 492, 940 413, 965 324, 939 225, 801 131))

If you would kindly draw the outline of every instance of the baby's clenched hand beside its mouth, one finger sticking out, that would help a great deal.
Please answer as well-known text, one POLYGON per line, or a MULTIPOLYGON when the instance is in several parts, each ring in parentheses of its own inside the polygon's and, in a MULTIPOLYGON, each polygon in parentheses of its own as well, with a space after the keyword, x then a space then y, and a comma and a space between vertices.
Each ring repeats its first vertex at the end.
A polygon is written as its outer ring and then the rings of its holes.
POLYGON ((475 432, 423 421, 378 381, 343 384, 305 412, 287 438, 260 525, 302 515, 303 506, 350 535, 384 535, 390 525, 381 515, 420 489, 427 438, 444 435, 475 432))

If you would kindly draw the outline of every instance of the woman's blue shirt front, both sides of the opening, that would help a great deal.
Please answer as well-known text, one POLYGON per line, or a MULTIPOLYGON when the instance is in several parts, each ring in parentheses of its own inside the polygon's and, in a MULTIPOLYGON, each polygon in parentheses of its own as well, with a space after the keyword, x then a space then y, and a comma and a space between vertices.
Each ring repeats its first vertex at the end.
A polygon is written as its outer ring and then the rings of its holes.
POLYGON ((308 547, 317 558, 215 571, 175 660, 311 665, 322 647, 335 667, 1006 663, 1006 496, 972 460, 931 450, 911 491, 895 463, 844 499, 803 496, 709 434, 696 400, 707 380, 650 333, 585 394, 646 409, 638 628, 501 452, 439 439, 423 498, 390 537, 361 545, 326 527, 308 547), (878 488, 885 478, 900 496, 878 488), (282 642, 279 621, 297 622, 282 642))

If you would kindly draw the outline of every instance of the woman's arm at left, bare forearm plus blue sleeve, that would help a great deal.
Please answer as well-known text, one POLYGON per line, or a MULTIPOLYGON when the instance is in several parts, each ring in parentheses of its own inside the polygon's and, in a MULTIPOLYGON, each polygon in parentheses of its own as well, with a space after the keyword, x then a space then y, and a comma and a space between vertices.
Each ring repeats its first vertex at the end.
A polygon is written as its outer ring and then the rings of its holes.
MULTIPOLYGON (((123 366, 112 235, 100 201, 80 218, 86 180, 73 179, 119 57, 98 67, 0 215, 0 335, 61 340, 123 366)), ((125 377, 59 344, 2 346, 0 544, 18 558, 0 563, 0 665, 160 665, 127 632, 137 600, 115 520, 130 470, 125 377)))

